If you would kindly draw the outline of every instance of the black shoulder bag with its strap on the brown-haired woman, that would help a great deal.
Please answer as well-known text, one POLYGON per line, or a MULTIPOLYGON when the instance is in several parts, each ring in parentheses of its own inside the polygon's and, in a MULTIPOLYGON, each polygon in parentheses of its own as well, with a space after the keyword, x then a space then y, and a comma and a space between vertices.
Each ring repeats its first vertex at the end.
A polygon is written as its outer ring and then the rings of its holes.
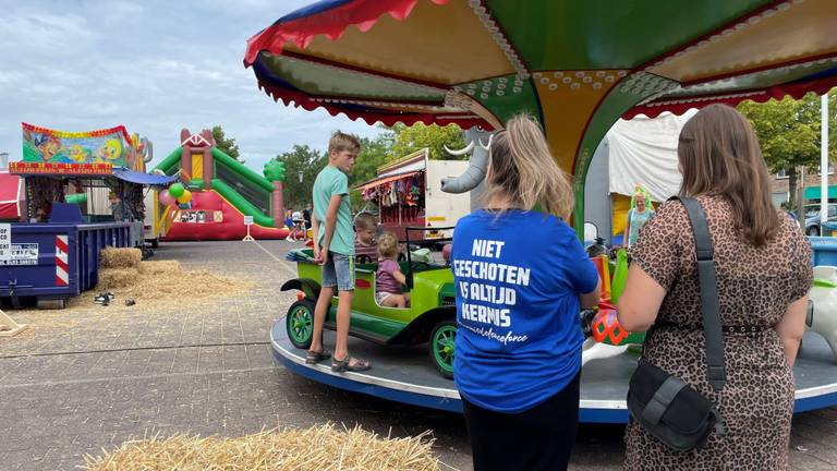
MULTIPOLYGON (((706 336, 706 375, 712 387, 721 390, 727 373, 709 229, 703 207, 696 200, 679 200, 689 213, 694 233, 703 330, 706 336)), ((676 451, 702 448, 713 430, 720 436, 726 435, 724 419, 712 401, 644 358, 640 358, 636 371, 631 376, 628 410, 643 428, 676 451)))

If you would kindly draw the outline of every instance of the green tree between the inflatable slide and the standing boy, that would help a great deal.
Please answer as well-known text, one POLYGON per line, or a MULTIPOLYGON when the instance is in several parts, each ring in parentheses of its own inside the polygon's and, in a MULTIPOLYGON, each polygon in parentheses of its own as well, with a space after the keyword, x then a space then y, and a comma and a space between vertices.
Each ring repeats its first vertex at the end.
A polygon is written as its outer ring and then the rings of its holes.
POLYGON ((284 206, 302 209, 312 203, 311 194, 317 173, 328 164, 325 153, 306 145, 294 145, 293 149, 279 154, 276 159, 284 164, 284 206), (302 172, 302 181, 300 181, 302 172))

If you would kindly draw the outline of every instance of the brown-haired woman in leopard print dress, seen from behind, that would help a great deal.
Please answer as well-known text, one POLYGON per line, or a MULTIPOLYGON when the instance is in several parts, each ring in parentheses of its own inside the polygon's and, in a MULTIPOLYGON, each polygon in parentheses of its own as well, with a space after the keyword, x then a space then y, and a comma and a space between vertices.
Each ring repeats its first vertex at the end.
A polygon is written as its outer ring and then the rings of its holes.
POLYGON ((686 208, 664 204, 632 252, 619 322, 654 328, 645 358, 718 406, 727 435, 676 452, 632 422, 628 470, 786 470, 793 410, 791 367, 804 331, 811 247, 800 228, 771 203, 769 180, 750 124, 713 105, 680 134, 681 194, 696 197, 715 246, 727 383, 706 381, 694 238, 686 208), (742 333, 741 330, 745 330, 742 333))

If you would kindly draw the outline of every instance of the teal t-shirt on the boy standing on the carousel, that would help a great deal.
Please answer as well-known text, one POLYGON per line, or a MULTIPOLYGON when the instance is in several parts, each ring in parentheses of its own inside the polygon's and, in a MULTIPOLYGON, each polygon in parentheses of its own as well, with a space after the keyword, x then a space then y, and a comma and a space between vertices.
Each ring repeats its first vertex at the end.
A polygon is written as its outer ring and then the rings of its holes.
POLYGON ((331 196, 342 196, 337 208, 337 225, 331 237, 331 252, 342 255, 354 255, 354 228, 352 228, 352 209, 349 205, 349 178, 340 169, 326 166, 314 181, 314 215, 319 224, 317 243, 323 246, 326 237, 326 213, 331 196))

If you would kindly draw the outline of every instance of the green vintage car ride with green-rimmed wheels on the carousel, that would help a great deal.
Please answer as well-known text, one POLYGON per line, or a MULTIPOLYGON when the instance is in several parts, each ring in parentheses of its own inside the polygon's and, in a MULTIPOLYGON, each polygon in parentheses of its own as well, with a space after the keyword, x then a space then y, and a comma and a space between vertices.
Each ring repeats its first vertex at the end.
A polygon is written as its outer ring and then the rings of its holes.
MULTIPOLYGON (((282 291, 298 290, 298 301, 286 316, 288 337, 294 347, 307 349, 314 330, 314 305, 319 297, 320 267, 314 251, 295 249, 289 258, 296 261, 298 278, 282 285, 282 291)), ((444 377, 453 377, 457 306, 453 273, 450 266, 413 259, 399 262, 407 276, 404 291, 411 294, 409 307, 384 307, 375 300, 377 263, 355 264, 355 289, 349 335, 379 345, 428 343, 432 364, 444 377)), ((337 297, 326 316, 325 327, 337 328, 337 297)))

